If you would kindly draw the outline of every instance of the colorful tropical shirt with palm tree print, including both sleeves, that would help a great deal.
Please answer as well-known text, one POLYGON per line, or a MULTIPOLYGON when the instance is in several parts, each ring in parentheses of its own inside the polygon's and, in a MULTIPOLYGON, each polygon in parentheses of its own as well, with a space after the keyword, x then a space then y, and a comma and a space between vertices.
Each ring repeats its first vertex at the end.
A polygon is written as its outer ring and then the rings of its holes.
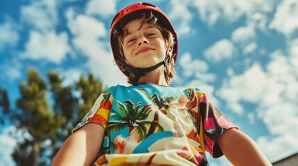
POLYGON ((208 165, 217 138, 237 128, 200 89, 156 84, 111 86, 76 126, 97 123, 104 141, 94 165, 208 165))

